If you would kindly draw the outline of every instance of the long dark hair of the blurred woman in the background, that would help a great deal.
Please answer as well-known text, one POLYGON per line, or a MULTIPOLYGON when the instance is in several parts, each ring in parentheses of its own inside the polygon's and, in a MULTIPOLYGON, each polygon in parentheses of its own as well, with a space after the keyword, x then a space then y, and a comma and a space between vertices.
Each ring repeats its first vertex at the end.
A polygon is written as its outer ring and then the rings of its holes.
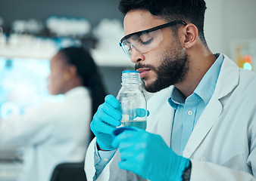
POLYGON ((58 53, 64 56, 66 63, 76 66, 77 75, 83 81, 83 86, 88 87, 92 95, 92 116, 101 103, 104 103, 106 96, 105 87, 102 84, 101 76, 98 73, 98 67, 92 59, 89 51, 83 48, 64 48, 58 53))

